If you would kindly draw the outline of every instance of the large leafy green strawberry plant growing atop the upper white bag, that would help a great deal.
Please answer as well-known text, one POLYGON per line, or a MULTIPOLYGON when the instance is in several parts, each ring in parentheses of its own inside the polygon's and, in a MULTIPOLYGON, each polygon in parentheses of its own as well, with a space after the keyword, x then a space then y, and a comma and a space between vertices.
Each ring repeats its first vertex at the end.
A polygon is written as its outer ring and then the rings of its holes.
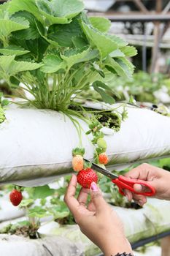
POLYGON ((88 18, 80 0, 1 4, 0 77, 32 94, 23 98, 36 108, 77 116, 69 106, 90 86, 112 104, 112 90, 100 79, 108 71, 130 78, 134 66, 127 58, 136 50, 108 34, 109 27, 106 18, 88 18))

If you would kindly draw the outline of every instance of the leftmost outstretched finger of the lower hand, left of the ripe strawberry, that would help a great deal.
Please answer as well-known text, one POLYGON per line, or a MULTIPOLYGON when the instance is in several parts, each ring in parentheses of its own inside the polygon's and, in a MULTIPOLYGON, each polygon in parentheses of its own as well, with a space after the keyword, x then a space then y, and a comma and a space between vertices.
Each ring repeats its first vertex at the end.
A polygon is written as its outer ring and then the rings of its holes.
POLYGON ((66 190, 66 195, 64 197, 64 200, 66 202, 66 205, 69 207, 70 211, 72 211, 73 215, 76 215, 77 208, 80 206, 77 199, 74 197, 77 187, 77 176, 74 174, 72 175, 72 178, 69 182, 69 186, 66 190))

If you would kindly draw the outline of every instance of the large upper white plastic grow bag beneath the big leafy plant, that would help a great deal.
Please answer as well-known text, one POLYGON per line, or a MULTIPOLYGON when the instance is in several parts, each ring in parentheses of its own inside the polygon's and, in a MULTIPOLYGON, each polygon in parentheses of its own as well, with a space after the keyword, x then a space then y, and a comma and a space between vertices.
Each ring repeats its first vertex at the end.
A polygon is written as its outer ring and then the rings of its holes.
MULTIPOLYGON (((72 149, 79 146, 77 129, 63 113, 13 108, 0 124, 0 183, 36 186, 72 171, 72 149)), ((78 120, 85 157, 93 159, 88 125, 78 120)), ((151 110, 128 108, 119 132, 107 130, 109 165, 170 155, 170 118, 151 110), (110 134, 110 135, 108 135, 110 134)))

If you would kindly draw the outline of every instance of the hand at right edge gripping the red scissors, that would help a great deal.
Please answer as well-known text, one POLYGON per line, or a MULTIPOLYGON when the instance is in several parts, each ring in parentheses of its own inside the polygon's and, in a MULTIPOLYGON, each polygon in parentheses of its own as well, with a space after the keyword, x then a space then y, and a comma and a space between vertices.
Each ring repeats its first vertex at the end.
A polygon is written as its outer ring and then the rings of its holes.
MULTIPOLYGON (((156 190, 154 197, 170 200, 170 173, 167 170, 148 164, 142 164, 130 170, 128 173, 125 173, 125 177, 148 181, 147 183, 156 190)), ((149 192, 147 187, 141 186, 140 184, 134 184, 134 190, 136 190, 136 192, 149 192)), ((125 189, 124 192, 128 200, 132 200, 133 198, 140 206, 143 206, 144 203, 147 202, 147 197, 144 195, 136 195, 127 189, 125 189)))

